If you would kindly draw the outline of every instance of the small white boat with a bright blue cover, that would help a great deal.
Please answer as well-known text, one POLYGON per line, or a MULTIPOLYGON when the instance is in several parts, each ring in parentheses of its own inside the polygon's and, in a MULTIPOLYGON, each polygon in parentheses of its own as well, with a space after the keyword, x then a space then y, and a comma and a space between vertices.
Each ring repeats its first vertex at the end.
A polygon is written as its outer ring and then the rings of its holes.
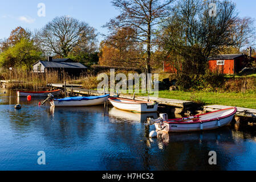
POLYGON ((51 99, 50 103, 55 107, 94 106, 104 104, 104 102, 108 100, 108 97, 109 94, 90 97, 67 97, 61 99, 51 99))

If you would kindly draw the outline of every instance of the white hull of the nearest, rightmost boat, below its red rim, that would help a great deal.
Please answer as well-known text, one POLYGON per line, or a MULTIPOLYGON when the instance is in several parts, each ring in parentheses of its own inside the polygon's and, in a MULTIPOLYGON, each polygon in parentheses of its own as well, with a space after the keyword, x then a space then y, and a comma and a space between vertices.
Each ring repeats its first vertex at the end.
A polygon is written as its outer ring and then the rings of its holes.
MULTIPOLYGON (((230 108, 229 108, 230 109, 230 108)), ((223 110, 220 110, 223 111, 223 110)), ((155 123, 155 127, 159 131, 166 132, 188 132, 188 131, 205 131, 205 130, 214 130, 218 129, 222 126, 229 125, 232 121, 237 108, 234 107, 234 111, 230 111, 231 113, 227 115, 222 115, 221 117, 214 118, 214 113, 217 114, 218 111, 208 113, 212 114, 213 118, 209 118, 207 120, 197 121, 197 122, 180 122, 177 120, 174 122, 164 122, 164 123, 155 123)), ((208 114, 202 115, 202 117, 208 117, 208 114)), ((200 117, 197 116, 197 117, 200 117)), ((181 120, 182 121, 182 120, 181 120)))

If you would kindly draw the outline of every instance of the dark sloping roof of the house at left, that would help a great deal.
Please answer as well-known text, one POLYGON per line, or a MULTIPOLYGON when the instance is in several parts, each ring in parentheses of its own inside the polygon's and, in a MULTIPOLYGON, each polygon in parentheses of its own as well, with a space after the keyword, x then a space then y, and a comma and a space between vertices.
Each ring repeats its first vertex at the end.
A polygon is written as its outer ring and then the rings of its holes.
POLYGON ((67 63, 60 61, 37 61, 35 64, 37 64, 38 62, 40 62, 46 68, 87 69, 87 67, 81 63, 67 63))

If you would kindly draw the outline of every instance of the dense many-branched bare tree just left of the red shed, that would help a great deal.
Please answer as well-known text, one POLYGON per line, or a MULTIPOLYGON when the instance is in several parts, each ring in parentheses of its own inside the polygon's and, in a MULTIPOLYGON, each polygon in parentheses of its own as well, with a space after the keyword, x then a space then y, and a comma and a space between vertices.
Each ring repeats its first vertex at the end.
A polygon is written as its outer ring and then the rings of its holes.
POLYGON ((214 1, 217 13, 211 16, 210 2, 179 1, 172 16, 162 25, 160 46, 171 57, 181 57, 182 73, 204 73, 210 55, 219 53, 220 47, 235 44, 231 28, 237 17, 234 3, 214 1))

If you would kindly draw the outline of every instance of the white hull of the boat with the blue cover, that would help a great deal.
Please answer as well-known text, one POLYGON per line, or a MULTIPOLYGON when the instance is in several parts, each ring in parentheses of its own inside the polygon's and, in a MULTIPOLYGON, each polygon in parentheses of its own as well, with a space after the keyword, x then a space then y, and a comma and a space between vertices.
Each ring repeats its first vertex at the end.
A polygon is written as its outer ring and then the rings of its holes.
POLYGON ((94 106, 94 105, 102 105, 108 100, 108 96, 97 98, 94 100, 82 100, 82 101, 58 101, 52 100, 50 104, 55 107, 79 107, 79 106, 94 106))

